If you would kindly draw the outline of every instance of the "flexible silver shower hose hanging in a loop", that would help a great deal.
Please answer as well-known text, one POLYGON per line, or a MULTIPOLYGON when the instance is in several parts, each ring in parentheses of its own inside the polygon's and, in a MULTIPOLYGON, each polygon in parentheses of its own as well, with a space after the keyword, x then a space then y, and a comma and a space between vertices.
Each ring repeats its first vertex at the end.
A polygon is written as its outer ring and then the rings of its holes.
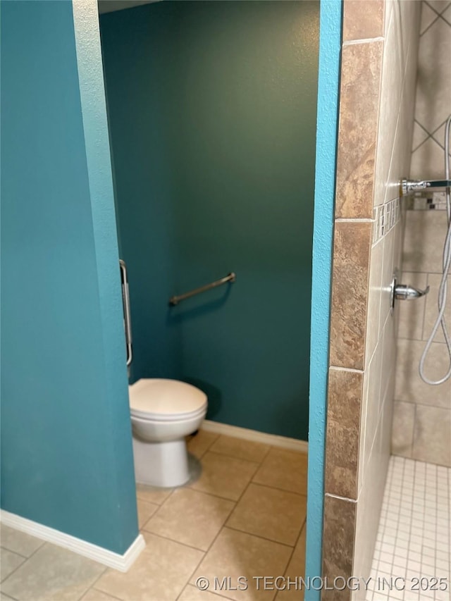
POLYGON ((445 126, 445 186, 446 186, 446 213, 447 213, 447 234, 445 237, 445 244, 443 245, 443 274, 442 280, 440 282, 440 287, 438 288, 438 315, 435 319, 435 323, 433 325, 431 335, 428 337, 428 341, 426 342, 426 346, 424 347, 423 354, 421 355, 420 364, 419 364, 419 374, 421 379, 426 384, 431 384, 433 386, 437 386, 443 384, 451 377, 451 340, 450 335, 447 331, 446 321, 445 321, 445 307, 446 307, 446 297, 447 297, 447 280, 448 275, 450 273, 451 266, 451 182, 450 182, 450 128, 451 128, 451 115, 447 118, 446 126, 445 126), (426 361, 426 357, 428 355, 429 349, 431 349, 431 345, 435 334, 439 327, 442 327, 443 335, 445 336, 445 342, 447 346, 448 356, 450 359, 450 367, 445 373, 443 378, 439 378, 438 380, 430 380, 426 373, 424 372, 424 364, 426 361))

